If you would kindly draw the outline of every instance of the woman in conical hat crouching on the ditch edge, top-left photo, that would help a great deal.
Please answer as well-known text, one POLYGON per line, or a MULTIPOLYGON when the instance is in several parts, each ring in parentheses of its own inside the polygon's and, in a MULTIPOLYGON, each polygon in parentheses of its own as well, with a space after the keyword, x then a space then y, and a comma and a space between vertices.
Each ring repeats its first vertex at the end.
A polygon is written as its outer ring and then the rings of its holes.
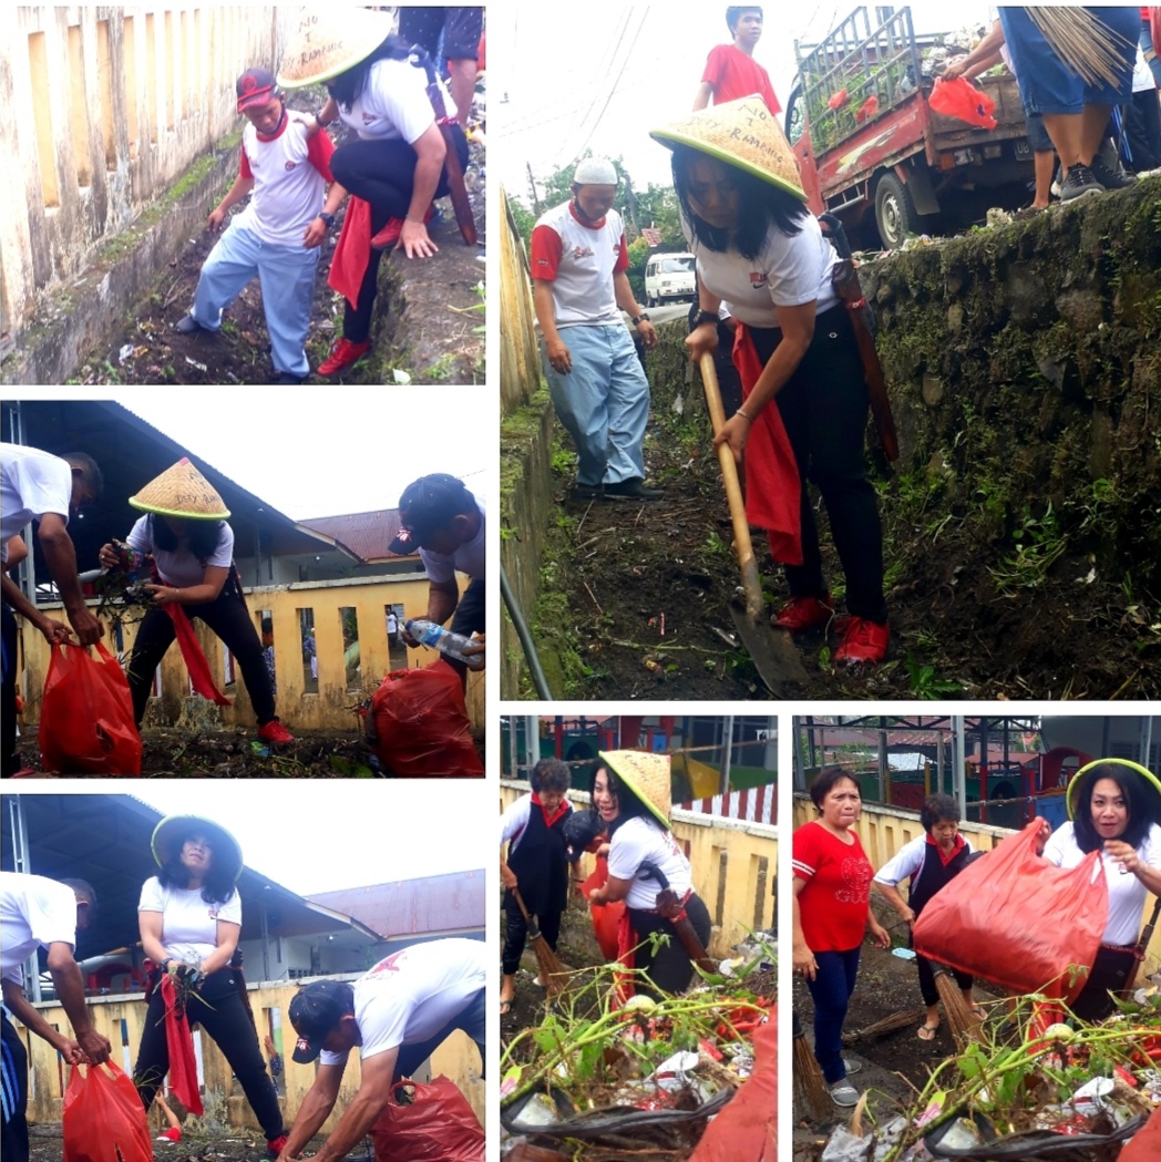
MULTIPOLYGON (((325 85, 329 98, 316 121, 323 127, 342 121, 354 134, 331 157, 331 173, 352 201, 329 275, 346 297, 343 335, 318 367, 321 375, 337 375, 371 346, 382 251, 397 248, 408 258, 430 258, 438 250, 427 222, 432 199, 447 193, 447 145, 428 95, 425 56, 413 63, 392 27, 392 16, 366 8, 303 9, 278 73, 288 88, 325 85)), ((438 78, 433 84, 454 121, 451 96, 438 78)), ((452 127, 451 139, 466 166, 467 139, 459 125, 452 127)))

